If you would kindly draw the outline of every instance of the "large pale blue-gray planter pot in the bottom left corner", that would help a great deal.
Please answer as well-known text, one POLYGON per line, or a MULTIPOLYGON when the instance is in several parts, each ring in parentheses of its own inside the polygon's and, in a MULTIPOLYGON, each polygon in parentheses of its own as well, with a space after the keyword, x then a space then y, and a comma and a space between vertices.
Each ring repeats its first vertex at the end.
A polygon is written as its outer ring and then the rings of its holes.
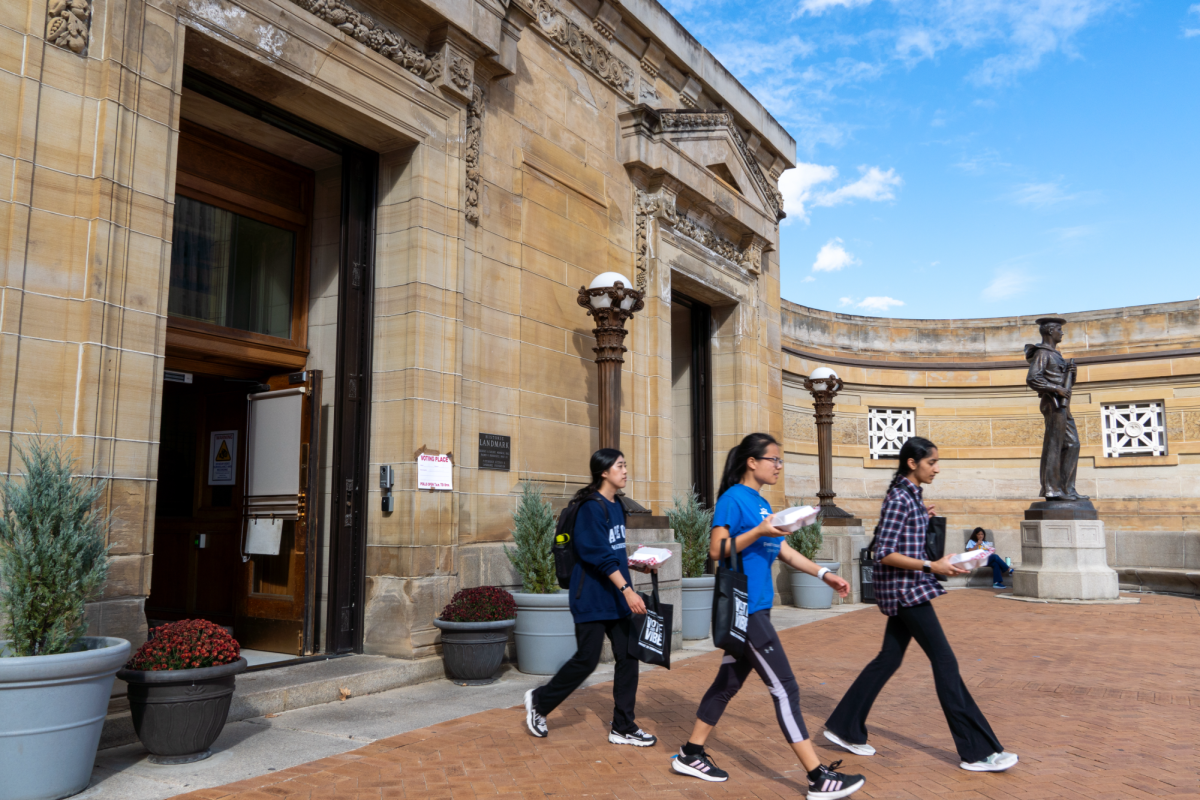
POLYGON ((0 800, 56 800, 88 788, 113 676, 131 646, 113 637, 83 642, 78 652, 0 658, 0 800))

